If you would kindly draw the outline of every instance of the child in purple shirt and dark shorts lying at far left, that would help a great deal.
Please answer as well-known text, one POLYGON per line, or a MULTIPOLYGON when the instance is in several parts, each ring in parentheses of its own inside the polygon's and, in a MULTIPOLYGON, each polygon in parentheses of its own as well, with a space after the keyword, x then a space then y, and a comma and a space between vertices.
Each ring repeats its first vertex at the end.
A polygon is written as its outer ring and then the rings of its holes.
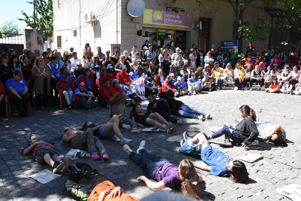
POLYGON ((65 156, 64 159, 57 156, 53 144, 54 142, 46 139, 42 140, 39 135, 33 134, 30 136, 28 143, 25 144, 22 152, 24 155, 30 152, 33 160, 39 164, 45 161, 48 165, 51 165, 53 173, 57 173, 60 169, 63 172, 68 171, 71 159, 68 156, 65 156))

